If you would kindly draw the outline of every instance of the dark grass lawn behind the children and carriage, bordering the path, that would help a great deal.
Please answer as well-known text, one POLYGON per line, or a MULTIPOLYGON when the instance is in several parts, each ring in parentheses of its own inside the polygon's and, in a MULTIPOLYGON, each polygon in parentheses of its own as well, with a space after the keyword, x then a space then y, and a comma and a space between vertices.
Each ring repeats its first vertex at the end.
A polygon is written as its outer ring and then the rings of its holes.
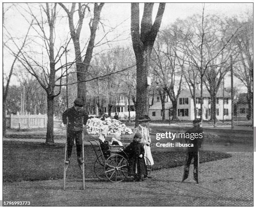
MULTIPOLYGON (((95 178, 93 165, 95 155, 89 146, 85 146, 85 175, 95 178)), ((154 170, 173 168, 184 164, 185 153, 180 151, 152 152, 154 170)), ((215 151, 202 151, 200 163, 229 158, 231 154, 215 151)), ((37 181, 63 178, 64 145, 45 145, 44 143, 3 142, 3 181, 37 181)), ((76 149, 73 148, 72 160, 67 178, 82 178, 82 172, 76 161, 76 149)))

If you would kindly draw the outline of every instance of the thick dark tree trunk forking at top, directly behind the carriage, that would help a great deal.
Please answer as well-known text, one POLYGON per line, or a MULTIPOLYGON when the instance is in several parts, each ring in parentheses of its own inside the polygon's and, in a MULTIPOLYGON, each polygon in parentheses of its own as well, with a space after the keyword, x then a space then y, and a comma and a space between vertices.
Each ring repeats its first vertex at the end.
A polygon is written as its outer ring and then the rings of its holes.
POLYGON ((148 115, 149 104, 147 77, 149 61, 154 41, 161 25, 165 3, 159 3, 154 23, 152 23, 153 6, 154 3, 144 3, 140 30, 139 3, 131 3, 131 37, 137 64, 136 118, 141 115, 148 115))

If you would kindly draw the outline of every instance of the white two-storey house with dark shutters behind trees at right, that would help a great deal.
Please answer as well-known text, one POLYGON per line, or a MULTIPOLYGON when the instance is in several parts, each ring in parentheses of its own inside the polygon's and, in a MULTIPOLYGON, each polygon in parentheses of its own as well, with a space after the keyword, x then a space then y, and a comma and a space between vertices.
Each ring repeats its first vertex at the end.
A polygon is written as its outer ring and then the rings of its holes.
MULTIPOLYGON (((149 108, 149 117, 152 120, 161 120, 162 119, 162 107, 161 101, 158 99, 158 95, 154 95, 154 101, 156 101, 149 108)), ((151 96, 152 99, 152 96, 151 96)), ((150 101, 151 101, 150 99, 150 101)), ((166 109, 166 120, 169 119, 169 112, 172 110, 172 102, 169 101, 169 98, 166 99, 165 102, 166 109)), ((210 94, 207 91, 203 92, 203 112, 202 119, 210 120, 210 94)), ((196 114, 197 118, 200 118, 200 90, 196 90, 196 114)), ((170 115, 172 113, 170 112, 170 115)), ((228 92, 224 91, 224 107, 223 107, 223 91, 220 90, 217 93, 216 98, 216 117, 218 120, 223 120, 223 112, 224 112, 224 120, 231 120, 231 97, 228 92)), ((194 103, 193 98, 188 89, 183 89, 179 94, 178 102, 177 102, 177 115, 179 120, 194 120, 194 103)), ((172 118, 172 116, 171 116, 172 118)))

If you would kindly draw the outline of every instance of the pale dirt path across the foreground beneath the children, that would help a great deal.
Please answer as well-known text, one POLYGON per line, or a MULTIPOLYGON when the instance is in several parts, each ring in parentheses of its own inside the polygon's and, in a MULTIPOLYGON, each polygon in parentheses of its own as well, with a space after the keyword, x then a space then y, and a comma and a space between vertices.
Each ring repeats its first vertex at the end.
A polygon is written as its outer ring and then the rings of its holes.
MULTIPOLYGON (((253 153, 200 164, 200 184, 181 183, 183 167, 153 171, 143 182, 62 180, 3 183, 3 201, 31 206, 253 206, 253 153)), ((192 171, 192 169, 191 169, 192 171)))

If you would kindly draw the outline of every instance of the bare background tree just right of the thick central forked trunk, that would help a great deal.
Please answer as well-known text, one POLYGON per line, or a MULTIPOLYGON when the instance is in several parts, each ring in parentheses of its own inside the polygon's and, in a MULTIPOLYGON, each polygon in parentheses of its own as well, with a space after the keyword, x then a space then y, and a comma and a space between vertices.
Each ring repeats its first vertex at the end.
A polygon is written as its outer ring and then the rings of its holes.
POLYGON ((154 48, 156 59, 155 73, 163 84, 166 94, 172 101, 172 120, 178 120, 177 102, 182 87, 184 54, 179 58, 177 47, 180 44, 179 31, 172 26, 159 33, 158 42, 154 48))

